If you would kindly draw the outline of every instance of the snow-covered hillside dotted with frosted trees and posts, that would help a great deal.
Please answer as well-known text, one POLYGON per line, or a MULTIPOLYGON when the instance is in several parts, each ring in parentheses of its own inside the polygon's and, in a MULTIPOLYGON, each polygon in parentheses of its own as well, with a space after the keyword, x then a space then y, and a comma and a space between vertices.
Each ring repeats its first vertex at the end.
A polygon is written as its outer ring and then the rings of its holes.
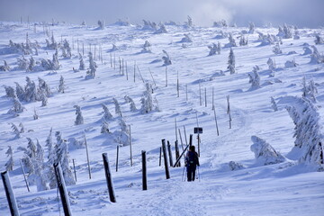
MULTIPOLYGON (((247 30, 197 26, 188 29, 183 25, 166 25, 167 33, 156 34, 135 25, 108 25, 103 30, 97 30, 94 26, 59 23, 49 26, 49 34, 53 32, 58 42, 62 39, 69 41, 72 58, 62 58, 59 50, 61 67, 57 71, 26 72, 14 69, 17 67, 16 58, 22 54, 5 51, 9 40, 25 42, 28 32, 31 42, 37 40, 40 44, 39 55, 33 55, 37 61, 52 58, 55 50, 45 49, 45 40, 49 37, 42 25, 38 25, 34 32, 33 26, 28 28, 27 23, 23 26, 20 23, 0 23, 0 65, 6 60, 12 68, 11 71, 0 72, 0 167, 4 171, 4 164, 8 160, 5 152, 11 146, 15 165, 10 177, 21 215, 64 214, 56 189, 37 192, 36 186, 31 185, 31 192, 27 192, 19 164, 23 151, 17 148, 27 147, 26 138, 33 139, 35 143, 39 139, 47 157, 45 140, 50 128, 53 128, 53 133, 60 131, 68 144, 71 139, 82 141, 84 134, 87 139, 91 179, 88 177, 85 148, 69 145, 69 164, 73 166, 72 159, 75 159, 77 175, 76 184, 67 186, 74 215, 324 215, 324 173, 312 166, 299 164, 298 160, 289 156, 294 146, 294 124, 285 109, 289 100, 280 102, 286 96, 302 96, 302 77, 305 76, 307 81, 312 78, 318 88, 316 106, 320 115, 324 115, 324 65, 312 64, 310 55, 302 55, 305 43, 314 45, 315 34, 320 33, 323 37, 324 31, 300 29, 301 39, 283 39, 280 45, 283 53, 275 55, 273 45, 260 46, 257 31, 276 35, 278 29, 257 28, 255 33, 246 34, 247 46, 233 48, 237 73, 230 75, 227 69, 229 48, 224 48, 229 40, 217 39, 216 36, 220 35, 220 31, 232 32, 238 44, 240 32, 247 30), (180 42, 184 33, 190 33, 193 42, 180 42), (85 70, 73 71, 73 67, 79 67, 77 40, 80 52, 84 44, 86 67, 89 65, 89 44, 92 44, 93 53, 96 45, 95 62, 98 67, 94 79, 85 80, 85 70), (151 53, 140 52, 145 40, 152 45, 151 53), (222 46, 220 55, 208 56, 207 46, 218 41, 222 46), (112 43, 117 50, 112 50, 112 43), (98 58, 99 45, 103 50, 103 61, 98 58), (167 67, 167 86, 166 67, 162 66, 163 49, 172 60, 172 65, 167 67), (295 53, 288 55, 291 51, 295 53), (111 54, 112 61, 114 56, 116 58, 115 69, 111 67, 111 54), (126 75, 121 75, 119 58, 124 59, 125 64, 127 61, 128 80, 126 75), (275 59, 278 67, 275 76, 269 76, 268 58, 275 59), (293 59, 297 67, 286 68, 284 63, 293 59), (137 68, 136 80, 133 80, 134 61, 143 80, 154 87, 153 97, 157 99, 159 112, 131 112, 129 103, 124 100, 124 96, 128 95, 138 110, 141 107, 140 98, 145 85, 137 68), (250 89, 247 74, 255 66, 260 67, 261 88, 250 89), (220 76, 221 70, 224 76, 220 76), (22 102, 26 110, 14 117, 7 113, 12 102, 5 96, 4 85, 15 86, 14 82, 17 82, 23 86, 26 76, 36 84, 38 77, 44 79, 53 95, 49 97, 48 105, 43 107, 41 102, 22 102), (67 85, 64 94, 58 93, 60 76, 64 76, 67 85), (177 76, 179 97, 176 92, 177 76), (211 109, 212 88, 220 136, 217 136, 211 109), (231 129, 227 95, 230 96, 231 129), (278 102, 277 112, 271 107, 271 96, 278 102), (121 130, 121 127, 114 112, 113 97, 121 104, 123 119, 131 127, 133 155, 133 166, 130 166, 130 146, 120 148, 118 172, 115 171, 118 144, 113 139, 113 131, 121 130), (101 133, 102 103, 108 106, 113 115, 109 122, 112 134, 101 133), (81 107, 84 117, 84 124, 81 125, 74 123, 76 104, 81 107), (34 109, 39 114, 38 120, 33 119, 34 109), (182 181, 184 161, 181 160, 181 167, 170 167, 171 178, 166 180, 163 159, 162 166, 158 166, 161 139, 170 141, 174 154, 175 119, 185 144, 184 126, 189 139, 189 134, 193 134, 193 128, 197 126, 196 116, 199 126, 203 128, 199 179, 192 183, 182 181), (9 123, 18 126, 21 122, 25 132, 20 139, 15 139, 9 123), (250 150, 253 144, 251 136, 265 139, 287 160, 268 166, 256 163, 254 153, 250 150), (142 191, 141 150, 147 151, 148 191, 142 191), (102 159, 104 152, 110 161, 116 203, 109 201, 107 193, 102 159), (244 168, 231 171, 229 161, 238 162, 244 168)), ((322 54, 324 45, 316 47, 322 54)), ((193 144, 197 144, 196 135, 193 135, 193 144)), ((10 215, 3 184, 0 184, 0 215, 10 215)))

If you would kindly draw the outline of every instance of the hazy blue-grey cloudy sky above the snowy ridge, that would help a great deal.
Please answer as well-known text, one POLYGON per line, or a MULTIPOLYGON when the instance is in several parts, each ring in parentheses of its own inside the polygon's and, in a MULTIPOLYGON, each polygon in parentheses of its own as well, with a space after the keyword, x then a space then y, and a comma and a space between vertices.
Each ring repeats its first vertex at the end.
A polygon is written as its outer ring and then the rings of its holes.
POLYGON ((70 23, 114 23, 128 17, 130 23, 150 21, 184 22, 211 26, 221 19, 238 26, 254 22, 317 28, 324 26, 324 0, 0 0, 0 20, 67 21, 70 23))

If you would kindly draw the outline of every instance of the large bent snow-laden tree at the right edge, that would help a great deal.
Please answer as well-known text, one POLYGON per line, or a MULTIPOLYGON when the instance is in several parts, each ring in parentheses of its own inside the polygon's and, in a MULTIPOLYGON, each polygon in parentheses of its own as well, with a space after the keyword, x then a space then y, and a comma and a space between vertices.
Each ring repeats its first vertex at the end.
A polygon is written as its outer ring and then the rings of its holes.
POLYGON ((316 106, 307 98, 295 97, 296 103, 287 106, 295 125, 295 138, 291 156, 298 158, 300 163, 323 168, 323 139, 320 114, 316 106))

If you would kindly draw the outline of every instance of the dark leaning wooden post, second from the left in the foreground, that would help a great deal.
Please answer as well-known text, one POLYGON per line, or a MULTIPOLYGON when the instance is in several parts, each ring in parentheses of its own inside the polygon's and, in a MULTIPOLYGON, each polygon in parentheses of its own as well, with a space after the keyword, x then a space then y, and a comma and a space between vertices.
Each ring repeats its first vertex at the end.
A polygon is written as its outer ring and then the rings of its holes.
POLYGON ((54 166, 55 176, 58 182, 58 191, 63 205, 64 215, 66 216, 72 215, 69 201, 68 201, 68 196, 67 196, 67 188, 62 173, 62 168, 59 165, 59 163, 54 163, 53 166, 54 166))

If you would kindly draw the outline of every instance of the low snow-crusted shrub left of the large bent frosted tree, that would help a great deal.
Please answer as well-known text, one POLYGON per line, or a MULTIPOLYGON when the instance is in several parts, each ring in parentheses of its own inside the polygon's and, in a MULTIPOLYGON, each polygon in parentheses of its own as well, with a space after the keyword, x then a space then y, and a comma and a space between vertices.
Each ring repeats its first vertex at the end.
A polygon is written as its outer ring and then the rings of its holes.
POLYGON ((268 144, 265 139, 252 136, 251 140, 254 143, 251 145, 251 151, 255 153, 258 165, 279 164, 286 160, 285 157, 275 151, 275 148, 268 144))

